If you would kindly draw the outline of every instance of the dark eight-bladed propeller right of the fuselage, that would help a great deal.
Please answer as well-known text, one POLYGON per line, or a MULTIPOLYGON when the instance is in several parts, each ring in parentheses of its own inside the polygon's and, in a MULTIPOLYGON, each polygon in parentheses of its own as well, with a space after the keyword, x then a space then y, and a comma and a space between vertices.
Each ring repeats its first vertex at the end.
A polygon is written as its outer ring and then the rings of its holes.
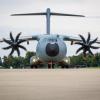
POLYGON ((82 41, 76 42, 75 44, 80 45, 81 47, 76 51, 76 54, 83 50, 83 55, 86 57, 86 53, 88 52, 89 54, 93 55, 91 49, 99 49, 99 47, 93 46, 94 43, 97 42, 98 38, 95 38, 94 40, 91 39, 90 33, 88 33, 87 39, 85 39, 82 35, 79 35, 82 41))

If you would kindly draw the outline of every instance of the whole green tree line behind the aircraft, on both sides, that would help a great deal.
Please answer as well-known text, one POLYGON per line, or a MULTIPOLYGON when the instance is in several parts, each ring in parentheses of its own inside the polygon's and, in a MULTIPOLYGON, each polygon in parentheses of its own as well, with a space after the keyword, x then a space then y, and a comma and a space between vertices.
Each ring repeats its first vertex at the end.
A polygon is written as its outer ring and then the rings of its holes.
MULTIPOLYGON (((3 68, 30 68, 30 58, 35 56, 35 52, 26 52, 25 57, 14 57, 14 56, 4 56, 3 58, 0 57, 0 66, 3 68)), ((78 56, 71 56, 70 64, 67 63, 57 63, 56 68, 67 68, 68 67, 100 67, 100 53, 96 53, 94 56, 87 55, 83 57, 82 54, 78 56), (63 66, 63 67, 59 67, 63 66)), ((46 65, 40 65, 40 68, 46 68, 46 65)))

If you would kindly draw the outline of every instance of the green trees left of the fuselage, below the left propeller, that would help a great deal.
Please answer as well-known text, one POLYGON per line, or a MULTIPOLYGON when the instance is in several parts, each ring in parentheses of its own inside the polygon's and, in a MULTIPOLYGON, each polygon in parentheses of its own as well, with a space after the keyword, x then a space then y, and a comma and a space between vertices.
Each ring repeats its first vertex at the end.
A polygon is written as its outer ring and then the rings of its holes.
POLYGON ((30 67, 30 58, 35 56, 35 52, 26 52, 25 57, 4 56, 0 57, 0 66, 3 68, 27 68, 30 67))

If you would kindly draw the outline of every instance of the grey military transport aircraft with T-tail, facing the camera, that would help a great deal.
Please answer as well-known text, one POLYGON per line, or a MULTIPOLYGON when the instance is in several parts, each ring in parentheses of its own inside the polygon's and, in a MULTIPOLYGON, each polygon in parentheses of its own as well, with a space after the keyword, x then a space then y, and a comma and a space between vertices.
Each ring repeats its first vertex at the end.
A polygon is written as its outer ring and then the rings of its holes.
POLYGON ((38 34, 28 37, 20 37, 21 33, 18 33, 16 38, 13 37, 12 33, 10 32, 9 39, 1 39, 0 42, 5 42, 9 46, 4 47, 4 50, 11 49, 9 55, 12 55, 14 51, 17 52, 18 56, 20 56, 20 48, 27 50, 24 46, 21 45, 23 42, 29 41, 38 41, 36 47, 36 57, 35 62, 47 62, 49 63, 56 63, 63 61, 66 57, 67 53, 67 46, 65 41, 70 41, 72 44, 80 45, 80 48, 76 51, 76 53, 82 51, 83 55, 86 56, 87 53, 93 55, 91 49, 99 49, 99 47, 94 46, 94 43, 100 44, 98 38, 91 39, 91 34, 88 33, 87 39, 85 39, 82 35, 79 35, 77 38, 73 38, 67 35, 61 34, 52 34, 50 32, 50 17, 51 16, 72 16, 72 17, 85 17, 84 15, 76 15, 76 14, 65 14, 65 13, 56 13, 51 12, 50 8, 47 8, 46 12, 39 12, 39 13, 25 13, 25 14, 12 14, 11 16, 46 16, 46 34, 38 34))

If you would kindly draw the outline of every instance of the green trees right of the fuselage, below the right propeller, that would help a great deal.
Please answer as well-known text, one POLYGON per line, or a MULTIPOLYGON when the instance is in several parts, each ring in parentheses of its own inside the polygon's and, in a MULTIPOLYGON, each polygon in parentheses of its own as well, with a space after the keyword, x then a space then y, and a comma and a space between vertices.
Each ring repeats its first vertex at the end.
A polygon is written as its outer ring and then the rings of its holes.
POLYGON ((76 67, 100 67, 100 53, 94 55, 87 54, 86 57, 83 54, 70 57, 70 64, 76 67))

